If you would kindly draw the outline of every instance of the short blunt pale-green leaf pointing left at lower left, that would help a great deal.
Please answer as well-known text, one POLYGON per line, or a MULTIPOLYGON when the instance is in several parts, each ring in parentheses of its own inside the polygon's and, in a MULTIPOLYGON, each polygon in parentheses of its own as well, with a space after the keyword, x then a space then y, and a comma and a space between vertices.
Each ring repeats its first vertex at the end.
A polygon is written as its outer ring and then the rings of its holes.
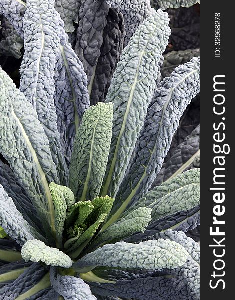
POLYGON ((59 266, 69 268, 72 265, 72 260, 63 252, 56 248, 46 246, 40 240, 33 239, 27 241, 21 250, 23 259, 33 262, 45 262, 46 265, 59 266))

